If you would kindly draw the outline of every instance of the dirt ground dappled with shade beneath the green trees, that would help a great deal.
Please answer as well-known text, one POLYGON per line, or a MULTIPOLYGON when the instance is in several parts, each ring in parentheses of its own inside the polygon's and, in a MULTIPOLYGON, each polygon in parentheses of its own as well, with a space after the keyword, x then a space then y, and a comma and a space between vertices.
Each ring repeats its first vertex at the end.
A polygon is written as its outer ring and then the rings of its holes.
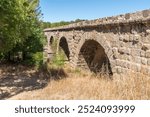
POLYGON ((47 81, 32 67, 0 65, 0 99, 8 99, 25 91, 42 89, 47 81))

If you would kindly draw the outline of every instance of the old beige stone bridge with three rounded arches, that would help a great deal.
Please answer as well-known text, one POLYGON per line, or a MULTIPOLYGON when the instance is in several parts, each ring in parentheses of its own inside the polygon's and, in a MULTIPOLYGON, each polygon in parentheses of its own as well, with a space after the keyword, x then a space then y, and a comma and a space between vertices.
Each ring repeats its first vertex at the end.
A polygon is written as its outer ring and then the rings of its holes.
POLYGON ((150 76, 150 10, 44 30, 49 60, 61 48, 72 67, 150 76), (57 48, 52 49, 53 43, 57 48))

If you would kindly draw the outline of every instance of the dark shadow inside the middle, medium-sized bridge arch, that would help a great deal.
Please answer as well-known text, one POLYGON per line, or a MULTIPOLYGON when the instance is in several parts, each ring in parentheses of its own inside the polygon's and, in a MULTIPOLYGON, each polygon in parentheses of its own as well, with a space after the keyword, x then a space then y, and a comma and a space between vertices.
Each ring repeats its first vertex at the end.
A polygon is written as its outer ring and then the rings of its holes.
POLYGON ((60 38, 59 47, 60 47, 61 50, 63 50, 63 52, 65 53, 65 55, 66 55, 66 57, 67 57, 67 59, 69 61, 70 51, 69 51, 68 42, 67 42, 65 37, 61 37, 60 38))

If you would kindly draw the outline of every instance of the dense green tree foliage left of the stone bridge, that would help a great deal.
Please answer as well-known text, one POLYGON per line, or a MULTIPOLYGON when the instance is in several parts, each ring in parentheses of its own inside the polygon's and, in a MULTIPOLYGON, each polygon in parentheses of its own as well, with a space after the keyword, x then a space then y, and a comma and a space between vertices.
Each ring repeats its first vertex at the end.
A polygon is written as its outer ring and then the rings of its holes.
POLYGON ((0 0, 0 58, 42 51, 40 15, 39 0, 0 0))

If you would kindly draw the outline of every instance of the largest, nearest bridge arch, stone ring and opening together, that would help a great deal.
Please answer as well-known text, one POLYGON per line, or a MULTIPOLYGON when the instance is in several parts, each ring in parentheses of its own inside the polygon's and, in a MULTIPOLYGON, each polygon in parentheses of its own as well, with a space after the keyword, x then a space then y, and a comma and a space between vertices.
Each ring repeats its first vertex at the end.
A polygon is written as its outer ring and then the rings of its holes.
POLYGON ((112 52, 106 39, 82 39, 77 51, 77 66, 94 73, 113 75, 109 60, 112 52))

